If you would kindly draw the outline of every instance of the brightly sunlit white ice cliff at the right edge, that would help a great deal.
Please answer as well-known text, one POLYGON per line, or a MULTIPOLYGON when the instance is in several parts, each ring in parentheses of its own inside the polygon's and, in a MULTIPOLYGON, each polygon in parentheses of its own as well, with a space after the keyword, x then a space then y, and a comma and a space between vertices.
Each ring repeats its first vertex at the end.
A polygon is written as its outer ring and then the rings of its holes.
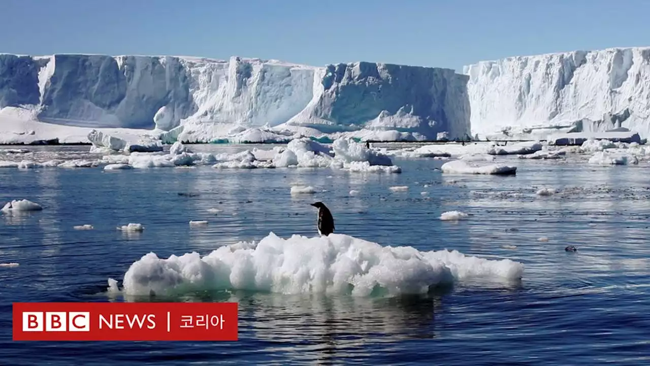
POLYGON ((650 133, 650 48, 509 57, 465 66, 473 137, 650 133))

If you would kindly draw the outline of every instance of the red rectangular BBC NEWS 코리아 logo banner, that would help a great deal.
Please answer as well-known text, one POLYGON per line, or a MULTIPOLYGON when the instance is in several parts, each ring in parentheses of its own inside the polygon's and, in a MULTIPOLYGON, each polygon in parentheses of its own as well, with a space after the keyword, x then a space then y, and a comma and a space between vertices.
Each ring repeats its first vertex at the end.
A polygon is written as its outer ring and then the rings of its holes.
POLYGON ((14 341, 237 341, 237 303, 13 303, 14 341))

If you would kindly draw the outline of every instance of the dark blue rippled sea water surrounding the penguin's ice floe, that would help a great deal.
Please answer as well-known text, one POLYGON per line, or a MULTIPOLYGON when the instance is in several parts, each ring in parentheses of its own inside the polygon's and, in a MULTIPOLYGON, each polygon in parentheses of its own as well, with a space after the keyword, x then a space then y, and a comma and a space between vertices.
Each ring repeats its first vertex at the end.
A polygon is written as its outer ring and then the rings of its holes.
MULTIPOLYGON (((79 156, 87 151, 38 148, 79 156)), ((244 148, 252 147, 195 150, 244 148)), ((517 175, 443 175, 435 168, 444 160, 433 159, 394 159, 402 174, 209 166, 0 169, 0 202, 25 198, 44 206, 0 217, 0 262, 19 263, 0 267, 0 363, 649 364, 647 165, 499 160, 517 165, 517 175), (292 196, 293 184, 317 192, 292 196), (391 186, 409 189, 393 192, 391 186), (536 195, 544 187, 558 193, 536 195), (523 278, 395 298, 188 294, 191 301, 239 302, 237 342, 12 341, 12 302, 123 301, 107 294, 107 279, 121 283, 129 266, 150 251, 161 258, 206 255, 269 232, 317 235, 313 201, 328 205, 337 232, 382 246, 512 259, 524 264, 523 278), (469 216, 439 220, 450 210, 469 216), (188 225, 197 219, 209 223, 188 225), (144 232, 116 230, 130 222, 142 223, 144 232), (94 230, 73 229, 83 224, 94 230), (548 240, 538 240, 543 237, 548 240)))

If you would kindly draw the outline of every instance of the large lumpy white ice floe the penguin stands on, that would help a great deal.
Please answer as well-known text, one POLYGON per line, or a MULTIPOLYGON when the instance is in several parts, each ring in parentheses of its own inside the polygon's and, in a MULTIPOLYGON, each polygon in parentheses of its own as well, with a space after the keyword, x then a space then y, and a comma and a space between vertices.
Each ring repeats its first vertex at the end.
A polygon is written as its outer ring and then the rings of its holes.
MULTIPOLYGON (((148 253, 124 274, 122 291, 165 296, 246 289, 396 296, 472 279, 518 281, 523 269, 523 264, 510 259, 482 259, 455 250, 382 246, 344 234, 284 239, 271 232, 259 242, 220 246, 204 257, 192 252, 162 259, 148 253)), ((117 284, 109 280, 109 287, 115 290, 117 284)))

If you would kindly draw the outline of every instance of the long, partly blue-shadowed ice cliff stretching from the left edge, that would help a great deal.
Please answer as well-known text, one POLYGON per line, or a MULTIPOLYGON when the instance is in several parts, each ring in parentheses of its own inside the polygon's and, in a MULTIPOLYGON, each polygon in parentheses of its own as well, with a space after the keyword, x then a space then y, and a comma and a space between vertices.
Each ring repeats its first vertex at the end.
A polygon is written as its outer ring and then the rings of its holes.
POLYGON ((0 111, 18 107, 65 126, 172 130, 167 137, 190 142, 250 128, 261 129, 255 135, 454 138, 469 133, 467 79, 449 69, 377 63, 2 54, 0 111))

